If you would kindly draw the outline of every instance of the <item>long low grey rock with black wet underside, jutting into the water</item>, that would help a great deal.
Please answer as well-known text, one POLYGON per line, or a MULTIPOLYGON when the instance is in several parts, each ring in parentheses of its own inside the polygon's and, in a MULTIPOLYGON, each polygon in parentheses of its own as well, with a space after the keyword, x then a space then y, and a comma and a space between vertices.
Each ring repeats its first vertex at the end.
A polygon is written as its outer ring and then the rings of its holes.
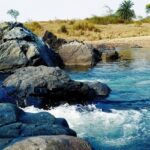
POLYGON ((8 92, 6 90, 6 95, 13 97, 15 103, 21 107, 34 105, 45 108, 47 105, 55 106, 62 102, 84 103, 94 98, 108 96, 109 87, 99 85, 93 88, 86 83, 71 80, 57 67, 39 66, 16 70, 4 80, 3 90, 9 89, 8 92))

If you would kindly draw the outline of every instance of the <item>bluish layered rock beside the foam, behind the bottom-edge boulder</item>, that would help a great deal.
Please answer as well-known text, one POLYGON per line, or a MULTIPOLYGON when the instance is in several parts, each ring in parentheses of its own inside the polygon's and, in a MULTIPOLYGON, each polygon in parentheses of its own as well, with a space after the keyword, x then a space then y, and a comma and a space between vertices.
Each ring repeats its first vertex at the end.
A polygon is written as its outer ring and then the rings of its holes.
POLYGON ((76 133, 65 119, 55 118, 50 113, 26 113, 15 105, 0 104, 0 149, 22 137, 39 135, 76 136, 76 133))

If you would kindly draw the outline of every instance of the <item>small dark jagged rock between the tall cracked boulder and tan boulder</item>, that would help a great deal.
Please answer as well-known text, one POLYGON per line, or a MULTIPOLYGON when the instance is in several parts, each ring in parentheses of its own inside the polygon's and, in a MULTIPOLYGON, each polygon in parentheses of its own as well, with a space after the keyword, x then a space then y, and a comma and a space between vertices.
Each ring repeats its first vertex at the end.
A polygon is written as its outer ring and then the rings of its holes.
POLYGON ((56 35, 49 31, 44 33, 43 41, 46 42, 50 48, 56 51, 60 46, 67 43, 65 39, 58 38, 56 35))

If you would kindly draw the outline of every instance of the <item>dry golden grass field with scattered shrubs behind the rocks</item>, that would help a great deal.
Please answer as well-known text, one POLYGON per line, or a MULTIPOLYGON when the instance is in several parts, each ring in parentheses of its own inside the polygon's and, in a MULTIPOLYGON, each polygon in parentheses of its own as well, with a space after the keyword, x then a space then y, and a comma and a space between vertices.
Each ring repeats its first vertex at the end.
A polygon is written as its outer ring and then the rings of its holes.
POLYGON ((84 20, 26 22, 25 26, 41 37, 48 30, 60 38, 81 41, 150 35, 150 18, 127 24, 116 16, 93 16, 84 20))

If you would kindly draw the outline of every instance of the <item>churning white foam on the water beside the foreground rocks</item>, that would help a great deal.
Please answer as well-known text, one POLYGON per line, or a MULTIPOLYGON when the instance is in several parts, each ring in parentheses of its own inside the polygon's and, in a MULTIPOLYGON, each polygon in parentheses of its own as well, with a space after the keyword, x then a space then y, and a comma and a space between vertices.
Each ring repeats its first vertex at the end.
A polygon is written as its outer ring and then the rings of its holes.
MULTIPOLYGON (((24 110, 32 113, 45 111, 34 107, 24 110)), ((130 143, 140 136, 139 130, 144 128, 144 124, 141 126, 142 111, 112 110, 112 113, 109 113, 97 109, 94 105, 77 107, 66 104, 48 112, 55 117, 65 118, 79 137, 91 138, 103 145, 120 146, 130 143)))

